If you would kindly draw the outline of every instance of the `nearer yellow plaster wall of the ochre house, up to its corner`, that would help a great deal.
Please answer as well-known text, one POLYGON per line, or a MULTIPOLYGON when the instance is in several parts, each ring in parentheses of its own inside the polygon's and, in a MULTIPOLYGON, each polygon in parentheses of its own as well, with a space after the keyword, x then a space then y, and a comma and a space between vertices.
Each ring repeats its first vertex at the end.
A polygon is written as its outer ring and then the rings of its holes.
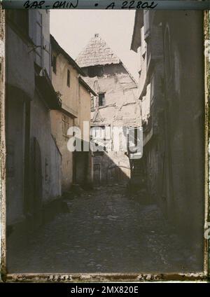
POLYGON ((52 55, 56 56, 56 73, 52 70, 52 85, 60 93, 63 111, 50 111, 51 129, 55 141, 62 154, 62 192, 69 191, 73 183, 73 153, 67 148, 67 131, 64 131, 63 119, 73 126, 73 120, 78 116, 78 71, 69 64, 69 61, 57 53, 52 46, 52 55), (70 71, 70 86, 67 85, 67 71, 70 71))

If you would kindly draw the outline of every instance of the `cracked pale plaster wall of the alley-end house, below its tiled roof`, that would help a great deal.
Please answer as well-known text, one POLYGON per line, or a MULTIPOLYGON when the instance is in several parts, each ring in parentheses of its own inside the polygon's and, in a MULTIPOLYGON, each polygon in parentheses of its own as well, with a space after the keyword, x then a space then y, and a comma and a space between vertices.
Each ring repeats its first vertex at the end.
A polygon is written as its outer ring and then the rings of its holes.
MULTIPOLYGON (((105 93, 105 104, 99 106, 94 97, 94 110, 91 112, 93 126, 111 127, 109 147, 113 146, 113 127, 141 126, 141 109, 137 99, 137 85, 124 65, 104 65, 102 76, 85 77, 85 81, 98 94, 105 93)), ((96 70, 97 72, 97 70, 96 70)), ((120 142, 125 135, 120 134, 120 142)), ((127 148, 106 151, 104 156, 94 156, 94 179, 106 183, 130 178, 130 161, 125 155, 127 148), (120 151, 121 150, 121 151, 120 151)))

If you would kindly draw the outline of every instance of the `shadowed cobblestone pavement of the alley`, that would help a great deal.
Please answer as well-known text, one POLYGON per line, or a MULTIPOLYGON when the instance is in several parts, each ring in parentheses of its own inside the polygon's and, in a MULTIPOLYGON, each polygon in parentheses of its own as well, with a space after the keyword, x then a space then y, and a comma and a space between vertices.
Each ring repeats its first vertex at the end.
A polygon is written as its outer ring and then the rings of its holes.
POLYGON ((10 256, 8 272, 186 272, 196 259, 156 205, 107 186, 66 198, 59 214, 10 256))

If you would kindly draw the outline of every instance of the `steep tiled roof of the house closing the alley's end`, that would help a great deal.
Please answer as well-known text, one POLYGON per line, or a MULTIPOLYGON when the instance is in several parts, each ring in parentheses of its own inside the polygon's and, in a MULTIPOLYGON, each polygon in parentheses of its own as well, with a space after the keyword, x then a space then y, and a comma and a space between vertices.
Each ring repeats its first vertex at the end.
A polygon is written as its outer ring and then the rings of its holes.
POLYGON ((106 42, 94 34, 86 48, 78 55, 76 62, 80 67, 94 65, 118 64, 120 59, 116 56, 106 42))

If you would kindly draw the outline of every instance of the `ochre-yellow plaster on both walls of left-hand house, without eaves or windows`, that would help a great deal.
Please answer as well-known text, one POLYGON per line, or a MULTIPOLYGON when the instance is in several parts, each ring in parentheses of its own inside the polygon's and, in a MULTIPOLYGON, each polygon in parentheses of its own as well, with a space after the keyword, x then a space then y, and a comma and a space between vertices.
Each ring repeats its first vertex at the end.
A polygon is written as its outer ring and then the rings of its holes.
MULTIPOLYGON (((74 158, 73 152, 67 148, 69 137, 67 131, 63 130, 63 120, 66 118, 69 127, 80 127, 83 139, 83 121, 90 123, 90 92, 79 83, 78 70, 72 66, 62 53, 57 53, 52 43, 52 55, 56 57, 56 73, 52 69, 52 85, 56 92, 61 94, 62 111, 50 111, 52 134, 54 135, 57 146, 62 153, 62 192, 69 191, 71 185, 76 179, 76 172, 85 172, 85 156, 74 158), (67 85, 67 71, 70 71, 70 85, 67 85), (65 134, 66 133, 66 134, 65 134), (80 164, 76 163, 80 160, 80 164), (74 164, 74 165, 73 165, 74 164)), ((85 139, 89 141, 89 139, 85 139)), ((87 166, 87 176, 92 180, 92 158, 90 155, 90 164, 87 166)))

